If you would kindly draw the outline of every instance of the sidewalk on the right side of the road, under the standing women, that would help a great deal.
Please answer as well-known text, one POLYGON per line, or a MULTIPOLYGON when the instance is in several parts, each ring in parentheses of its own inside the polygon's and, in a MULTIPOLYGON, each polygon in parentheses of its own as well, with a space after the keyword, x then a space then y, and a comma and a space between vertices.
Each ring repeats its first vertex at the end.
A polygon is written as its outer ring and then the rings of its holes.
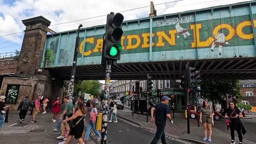
MULTIPOLYGON (((125 107, 129 108, 129 110, 126 109, 126 111, 119 110, 118 111, 118 117, 126 119, 126 121, 130 121, 133 123, 136 123, 138 125, 141 125, 141 127, 145 127, 147 129, 156 130, 155 123, 150 122, 150 115, 148 117, 148 123, 146 122, 146 114, 134 114, 134 117, 132 117, 130 111, 130 107, 124 105, 125 107)), ((172 116, 172 113, 171 113, 172 116)), ((184 139, 187 141, 191 141, 194 143, 230 143, 231 137, 230 137, 230 131, 221 131, 216 128, 213 128, 213 136, 212 136, 212 142, 205 142, 201 139, 203 138, 203 129, 200 127, 197 127, 197 119, 190 119, 190 134, 187 134, 187 119, 184 118, 184 113, 175 113, 173 118, 174 124, 171 124, 170 122, 166 122, 165 132, 166 135, 184 139)), ((219 121, 215 121, 218 123, 219 121)), ((224 123, 223 123, 224 124, 224 123)), ((236 135, 236 134, 235 134, 236 135)), ((236 141, 238 141, 238 137, 236 135, 235 137, 236 141)), ((247 144, 253 144, 254 142, 243 140, 243 143, 247 144)))

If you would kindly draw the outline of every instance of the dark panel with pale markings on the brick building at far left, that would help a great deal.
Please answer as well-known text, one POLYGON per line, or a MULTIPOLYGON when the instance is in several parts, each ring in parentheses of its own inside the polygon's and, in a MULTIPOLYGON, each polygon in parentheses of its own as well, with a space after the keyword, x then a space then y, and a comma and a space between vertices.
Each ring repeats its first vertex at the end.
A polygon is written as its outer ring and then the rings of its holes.
POLYGON ((19 85, 8 85, 7 86, 7 92, 6 92, 6 104, 13 104, 15 105, 18 99, 19 94, 19 85))

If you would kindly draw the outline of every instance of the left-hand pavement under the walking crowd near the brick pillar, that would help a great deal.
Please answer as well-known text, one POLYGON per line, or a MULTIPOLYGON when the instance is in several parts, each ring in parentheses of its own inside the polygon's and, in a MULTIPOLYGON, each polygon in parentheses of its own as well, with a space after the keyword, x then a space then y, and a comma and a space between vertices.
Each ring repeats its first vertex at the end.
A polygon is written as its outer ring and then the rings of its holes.
MULTIPOLYGON (((18 111, 11 111, 9 113, 8 123, 4 123, 4 127, 0 129, 0 143, 58 143, 63 140, 57 140, 56 137, 60 136, 60 132, 56 132, 53 129, 56 127, 57 122, 51 122, 53 113, 49 110, 47 113, 39 113, 36 115, 38 122, 31 123, 32 116, 27 115, 24 123, 19 123, 18 111)), ((89 121, 89 117, 86 117, 86 122, 89 121)), ((85 125, 86 125, 85 122, 85 125)), ((90 134, 91 139, 88 144, 95 144, 95 134, 90 134)), ((78 143, 77 140, 72 140, 69 143, 78 143)))

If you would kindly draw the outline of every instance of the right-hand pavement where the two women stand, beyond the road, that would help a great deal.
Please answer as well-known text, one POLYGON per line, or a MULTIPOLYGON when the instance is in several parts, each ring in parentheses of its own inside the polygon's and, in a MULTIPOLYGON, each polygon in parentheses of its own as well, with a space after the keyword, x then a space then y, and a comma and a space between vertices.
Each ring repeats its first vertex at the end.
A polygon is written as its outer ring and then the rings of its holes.
MULTIPOLYGON (((124 118, 127 121, 136 123, 138 125, 141 125, 143 128, 147 128, 149 130, 155 131, 156 126, 154 123, 146 122, 146 115, 137 115, 135 113, 134 117, 131 115, 130 107, 128 108, 125 105, 124 110, 118 110, 118 117, 124 118)), ((150 117, 149 117, 150 118, 150 117)), ((179 139, 184 139, 188 141, 192 141, 195 143, 210 143, 202 141, 203 137, 203 130, 201 127, 197 127, 197 121, 196 119, 190 119, 190 134, 187 134, 187 119, 184 118, 184 113, 175 113, 175 118, 173 119, 174 124, 171 124, 167 121, 165 131, 168 136, 176 137, 179 139)), ((242 119, 243 124, 245 125, 247 129, 247 134, 244 137, 243 143, 256 143, 254 137, 255 137, 255 121, 256 119, 242 119), (248 121, 250 124, 247 124, 248 121)), ((226 130, 224 118, 220 121, 215 122, 216 126, 213 128, 213 136, 212 136, 212 142, 211 143, 230 143, 230 131, 226 130), (222 128, 220 128, 222 127, 222 128)), ((238 141, 238 137, 236 134, 236 141, 238 141)))

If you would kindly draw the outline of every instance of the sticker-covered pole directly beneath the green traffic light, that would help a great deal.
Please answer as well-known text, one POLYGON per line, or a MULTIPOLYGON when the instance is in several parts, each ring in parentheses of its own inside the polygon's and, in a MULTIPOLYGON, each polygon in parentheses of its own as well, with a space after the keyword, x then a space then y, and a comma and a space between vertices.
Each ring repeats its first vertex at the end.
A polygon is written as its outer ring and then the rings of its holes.
POLYGON ((104 106, 103 106, 103 122, 102 122, 102 133, 101 133, 101 144, 107 143, 107 126, 108 126, 108 102, 110 92, 110 74, 112 62, 106 62, 106 74, 105 74, 105 88, 104 88, 104 106))

